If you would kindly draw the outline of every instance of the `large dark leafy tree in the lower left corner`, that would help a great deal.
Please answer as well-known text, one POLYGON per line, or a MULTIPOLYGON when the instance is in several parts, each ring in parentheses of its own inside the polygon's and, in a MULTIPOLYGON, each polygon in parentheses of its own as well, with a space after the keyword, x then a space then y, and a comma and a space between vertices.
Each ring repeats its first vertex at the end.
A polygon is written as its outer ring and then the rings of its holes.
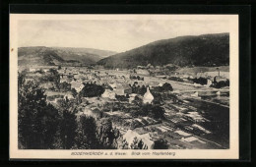
POLYGON ((38 84, 24 83, 21 76, 19 80, 19 147, 28 149, 52 148, 59 123, 58 110, 46 103, 46 95, 38 84))

